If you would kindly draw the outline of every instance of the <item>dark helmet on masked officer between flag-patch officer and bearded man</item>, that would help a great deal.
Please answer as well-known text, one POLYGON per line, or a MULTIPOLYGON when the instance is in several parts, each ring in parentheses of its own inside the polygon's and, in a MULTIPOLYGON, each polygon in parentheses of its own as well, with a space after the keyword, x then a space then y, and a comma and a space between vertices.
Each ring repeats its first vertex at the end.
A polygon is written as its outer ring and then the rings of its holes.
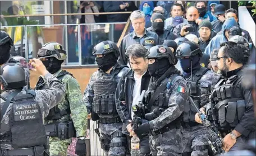
POLYGON ((178 46, 176 50, 177 58, 182 58, 186 56, 191 57, 197 54, 199 54, 200 57, 202 57, 203 55, 202 51, 199 49, 198 44, 193 41, 185 41, 180 46, 178 46))

